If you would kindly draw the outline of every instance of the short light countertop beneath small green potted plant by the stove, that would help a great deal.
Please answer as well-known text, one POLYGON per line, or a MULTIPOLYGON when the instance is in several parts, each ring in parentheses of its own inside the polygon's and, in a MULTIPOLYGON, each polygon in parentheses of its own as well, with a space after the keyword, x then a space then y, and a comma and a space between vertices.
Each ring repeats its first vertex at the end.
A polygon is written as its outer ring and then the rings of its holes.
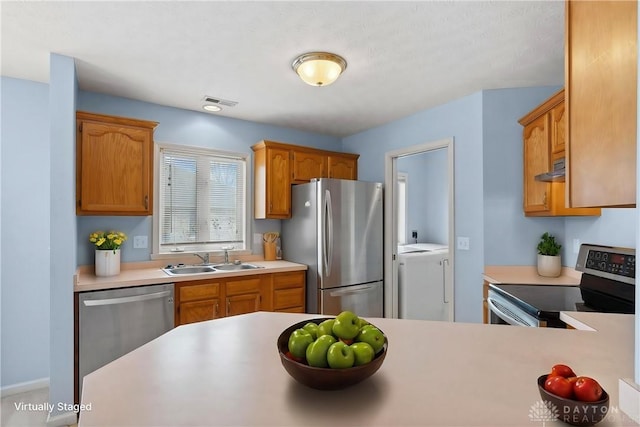
POLYGON ((578 286, 582 273, 573 268, 562 267, 560 277, 543 277, 536 266, 531 265, 488 265, 484 267, 483 278, 489 283, 578 286))

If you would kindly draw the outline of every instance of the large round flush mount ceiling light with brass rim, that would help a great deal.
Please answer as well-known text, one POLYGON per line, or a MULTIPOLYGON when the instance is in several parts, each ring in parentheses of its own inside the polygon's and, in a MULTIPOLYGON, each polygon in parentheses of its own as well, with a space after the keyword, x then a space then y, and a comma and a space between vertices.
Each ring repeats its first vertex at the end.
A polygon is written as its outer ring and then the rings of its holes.
POLYGON ((309 52, 298 56, 291 67, 306 84, 329 86, 347 68, 347 61, 329 52, 309 52))

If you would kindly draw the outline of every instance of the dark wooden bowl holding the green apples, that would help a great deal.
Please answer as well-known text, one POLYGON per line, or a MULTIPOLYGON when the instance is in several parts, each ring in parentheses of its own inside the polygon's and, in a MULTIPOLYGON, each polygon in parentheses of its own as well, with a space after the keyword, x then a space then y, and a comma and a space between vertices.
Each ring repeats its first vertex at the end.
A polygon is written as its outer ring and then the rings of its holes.
MULTIPOLYGON (((278 337, 278 353, 280 353, 280 361, 282 362, 284 369, 299 383, 318 390, 343 389, 357 384, 373 375, 380 368, 387 355, 389 342, 386 335, 384 337, 384 346, 382 347, 382 350, 375 355, 371 362, 366 365, 354 366, 352 368, 316 368, 305 363, 291 360, 285 355, 285 353, 289 351, 289 336, 291 336, 293 331, 302 328, 308 322, 320 324, 327 319, 330 319, 330 317, 305 320, 291 325, 282 331, 278 337)), ((382 333, 384 335, 384 332, 382 333)))

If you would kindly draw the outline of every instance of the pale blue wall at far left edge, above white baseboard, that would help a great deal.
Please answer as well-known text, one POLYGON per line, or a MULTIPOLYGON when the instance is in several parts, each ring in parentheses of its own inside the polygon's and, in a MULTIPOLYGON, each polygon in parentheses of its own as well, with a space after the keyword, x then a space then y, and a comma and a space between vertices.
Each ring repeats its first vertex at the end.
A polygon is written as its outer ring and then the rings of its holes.
MULTIPOLYGON (((49 377, 49 86, 2 77, 1 386, 49 377)), ((73 240, 73 239, 72 239, 73 240)))

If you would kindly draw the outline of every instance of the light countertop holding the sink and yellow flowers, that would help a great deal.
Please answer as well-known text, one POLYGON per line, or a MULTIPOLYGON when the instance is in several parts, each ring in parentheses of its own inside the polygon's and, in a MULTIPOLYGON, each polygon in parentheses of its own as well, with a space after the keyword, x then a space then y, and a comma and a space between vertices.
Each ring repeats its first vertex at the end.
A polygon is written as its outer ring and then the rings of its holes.
POLYGON ((212 277, 237 277, 251 276, 255 274, 283 273, 287 271, 306 270, 307 266, 289 261, 248 261, 259 269, 216 271, 205 274, 185 274, 181 276, 169 276, 162 271, 167 262, 146 262, 135 264, 123 264, 120 274, 111 277, 97 277, 93 273, 93 266, 81 267, 74 276, 74 292, 94 291, 99 289, 125 288, 139 285, 153 285, 160 283, 177 283, 188 280, 209 279, 212 277))

